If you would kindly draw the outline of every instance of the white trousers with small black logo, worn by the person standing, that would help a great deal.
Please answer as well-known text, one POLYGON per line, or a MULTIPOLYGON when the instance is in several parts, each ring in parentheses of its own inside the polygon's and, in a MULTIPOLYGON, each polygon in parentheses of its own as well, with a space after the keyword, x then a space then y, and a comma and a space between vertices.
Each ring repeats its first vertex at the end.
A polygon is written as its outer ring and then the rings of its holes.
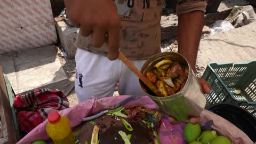
MULTIPOLYGON (((139 78, 119 59, 107 57, 77 48, 75 91, 78 102, 95 98, 111 97, 119 81, 120 95, 146 95, 140 87, 139 78)), ((139 70, 146 60, 132 60, 139 70)))

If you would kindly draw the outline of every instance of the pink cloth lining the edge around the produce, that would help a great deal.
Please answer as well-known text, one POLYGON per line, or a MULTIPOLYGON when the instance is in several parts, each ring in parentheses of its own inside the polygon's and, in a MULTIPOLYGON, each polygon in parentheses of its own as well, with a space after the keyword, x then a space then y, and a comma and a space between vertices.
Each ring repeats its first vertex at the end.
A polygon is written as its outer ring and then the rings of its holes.
MULTIPOLYGON (((132 95, 122 95, 118 97, 108 97, 95 99, 92 97, 90 100, 79 103, 78 105, 63 109, 59 113, 63 116, 69 118, 71 122, 71 126, 76 126, 82 122, 82 118, 97 114, 100 110, 105 110, 111 106, 114 106, 116 103, 129 98, 135 97, 132 95)), ((133 104, 143 105, 147 108, 157 110, 157 106, 153 100, 149 97, 144 96, 137 100, 130 101, 126 103, 124 106, 129 107, 133 104)), ((163 116, 161 126, 158 129, 158 135, 161 139, 162 143, 168 144, 185 144, 185 140, 183 138, 183 127, 185 123, 180 123, 178 125, 171 125, 166 118, 167 116, 163 116), (165 125, 165 126, 164 126, 165 125)), ((234 144, 253 144, 247 135, 239 130, 236 126, 226 121, 226 119, 221 118, 218 115, 211 113, 208 110, 203 110, 201 114, 201 126, 205 123, 209 122, 209 120, 213 120, 212 129, 217 130, 217 132, 221 135, 228 137, 234 144)), ((32 143, 36 140, 46 140, 49 139, 45 127, 47 120, 35 127, 34 130, 29 132, 23 139, 21 139, 18 143, 32 143)))

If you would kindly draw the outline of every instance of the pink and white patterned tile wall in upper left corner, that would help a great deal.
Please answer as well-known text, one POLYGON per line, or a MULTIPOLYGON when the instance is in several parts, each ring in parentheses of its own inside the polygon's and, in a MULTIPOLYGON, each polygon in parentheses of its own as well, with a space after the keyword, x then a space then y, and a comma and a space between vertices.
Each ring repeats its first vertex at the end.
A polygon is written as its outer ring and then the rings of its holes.
POLYGON ((50 0, 0 0, 0 54, 57 42, 50 0))

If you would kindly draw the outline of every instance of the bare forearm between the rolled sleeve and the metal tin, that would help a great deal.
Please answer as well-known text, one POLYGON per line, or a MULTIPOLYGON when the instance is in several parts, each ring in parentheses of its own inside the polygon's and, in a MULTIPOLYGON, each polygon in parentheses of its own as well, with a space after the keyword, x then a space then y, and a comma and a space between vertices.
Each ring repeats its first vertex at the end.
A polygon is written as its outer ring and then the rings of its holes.
POLYGON ((196 57, 203 29, 204 12, 193 11, 178 17, 178 52, 196 72, 196 57))

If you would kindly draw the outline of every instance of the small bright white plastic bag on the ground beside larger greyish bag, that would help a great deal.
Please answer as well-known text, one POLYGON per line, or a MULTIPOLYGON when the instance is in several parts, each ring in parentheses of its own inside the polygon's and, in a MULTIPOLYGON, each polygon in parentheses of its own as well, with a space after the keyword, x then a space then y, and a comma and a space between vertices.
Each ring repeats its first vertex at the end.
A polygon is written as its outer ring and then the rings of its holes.
POLYGON ((234 26, 229 21, 218 20, 213 23, 213 26, 210 29, 210 35, 213 36, 215 34, 223 33, 230 29, 234 29, 234 26))

